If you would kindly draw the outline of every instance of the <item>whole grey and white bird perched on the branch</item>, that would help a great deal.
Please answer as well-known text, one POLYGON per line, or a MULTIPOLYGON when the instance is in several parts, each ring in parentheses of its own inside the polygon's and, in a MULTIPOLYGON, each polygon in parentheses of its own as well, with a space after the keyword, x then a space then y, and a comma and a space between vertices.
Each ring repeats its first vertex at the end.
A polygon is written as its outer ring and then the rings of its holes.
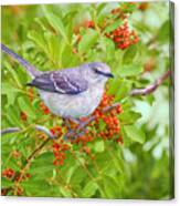
POLYGON ((1 44, 1 50, 27 69, 32 78, 28 85, 39 90, 50 111, 65 119, 77 120, 92 114, 102 100, 105 83, 113 78, 109 66, 102 62, 41 72, 6 45, 1 44))

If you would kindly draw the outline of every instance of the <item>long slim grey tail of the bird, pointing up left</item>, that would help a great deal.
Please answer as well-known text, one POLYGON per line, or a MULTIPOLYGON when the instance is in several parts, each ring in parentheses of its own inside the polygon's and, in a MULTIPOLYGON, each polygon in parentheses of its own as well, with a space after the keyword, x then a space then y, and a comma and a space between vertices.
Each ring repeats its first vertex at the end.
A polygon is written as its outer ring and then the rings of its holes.
POLYGON ((14 58, 21 65, 23 65, 28 73, 33 78, 33 76, 38 76, 41 74, 40 71, 35 70, 35 68, 33 65, 31 65, 28 61, 25 61, 23 58, 21 58, 20 55, 18 55, 17 53, 14 53, 13 51, 11 51, 9 48, 7 48, 4 44, 1 43, 1 50, 6 53, 8 53, 9 55, 11 55, 12 58, 14 58))

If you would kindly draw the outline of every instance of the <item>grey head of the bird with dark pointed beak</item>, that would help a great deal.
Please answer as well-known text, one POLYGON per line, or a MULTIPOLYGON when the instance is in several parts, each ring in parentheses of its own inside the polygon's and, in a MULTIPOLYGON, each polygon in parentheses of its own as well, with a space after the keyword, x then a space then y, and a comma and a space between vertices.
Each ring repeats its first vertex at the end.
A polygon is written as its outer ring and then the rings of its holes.
POLYGON ((109 78, 114 78, 110 68, 102 62, 93 62, 85 64, 86 76, 91 82, 106 82, 109 78))

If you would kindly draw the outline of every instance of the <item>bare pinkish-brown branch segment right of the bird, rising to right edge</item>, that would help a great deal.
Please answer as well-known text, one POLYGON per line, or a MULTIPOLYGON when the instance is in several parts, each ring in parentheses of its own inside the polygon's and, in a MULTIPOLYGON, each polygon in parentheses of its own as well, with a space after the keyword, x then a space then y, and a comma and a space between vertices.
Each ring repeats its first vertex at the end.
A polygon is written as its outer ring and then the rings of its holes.
POLYGON ((168 70, 165 72, 159 79, 157 79, 152 84, 148 85, 145 89, 134 89, 130 92, 131 96, 137 96, 137 95, 147 95, 157 90, 157 87, 162 84, 162 82, 171 74, 171 71, 168 70))

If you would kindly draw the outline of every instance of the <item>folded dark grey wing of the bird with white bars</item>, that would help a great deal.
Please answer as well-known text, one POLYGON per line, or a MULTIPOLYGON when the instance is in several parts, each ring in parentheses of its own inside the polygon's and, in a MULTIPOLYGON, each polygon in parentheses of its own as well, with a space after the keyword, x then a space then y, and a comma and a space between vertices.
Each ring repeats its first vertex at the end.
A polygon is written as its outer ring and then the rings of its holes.
POLYGON ((88 87, 88 83, 77 72, 47 72, 36 76, 28 85, 61 94, 78 94, 88 87))

